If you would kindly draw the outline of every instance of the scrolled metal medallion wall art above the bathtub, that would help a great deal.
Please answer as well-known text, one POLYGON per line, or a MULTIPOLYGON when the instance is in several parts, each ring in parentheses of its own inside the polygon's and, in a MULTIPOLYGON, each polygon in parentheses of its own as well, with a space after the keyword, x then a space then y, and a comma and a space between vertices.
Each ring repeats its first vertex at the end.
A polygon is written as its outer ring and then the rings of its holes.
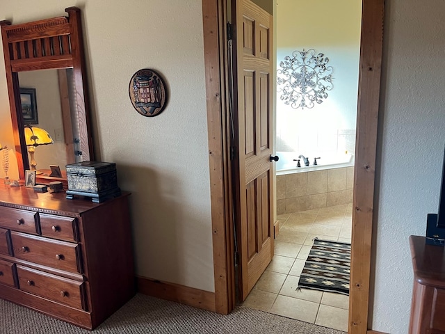
POLYGON ((314 49, 293 51, 292 56, 284 57, 277 70, 277 88, 284 104, 294 109, 314 107, 327 98, 332 90, 332 66, 327 66, 329 58, 317 54, 314 49))

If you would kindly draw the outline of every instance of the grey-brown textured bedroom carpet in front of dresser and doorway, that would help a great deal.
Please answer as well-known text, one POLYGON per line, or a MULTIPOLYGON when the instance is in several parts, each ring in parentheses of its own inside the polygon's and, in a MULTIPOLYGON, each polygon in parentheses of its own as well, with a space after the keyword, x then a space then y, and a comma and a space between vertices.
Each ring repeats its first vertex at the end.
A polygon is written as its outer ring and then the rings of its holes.
POLYGON ((0 299, 1 334, 168 334, 168 333, 298 333, 343 334, 331 328, 271 315, 250 308, 236 308, 230 315, 136 294, 118 312, 86 331, 0 299))

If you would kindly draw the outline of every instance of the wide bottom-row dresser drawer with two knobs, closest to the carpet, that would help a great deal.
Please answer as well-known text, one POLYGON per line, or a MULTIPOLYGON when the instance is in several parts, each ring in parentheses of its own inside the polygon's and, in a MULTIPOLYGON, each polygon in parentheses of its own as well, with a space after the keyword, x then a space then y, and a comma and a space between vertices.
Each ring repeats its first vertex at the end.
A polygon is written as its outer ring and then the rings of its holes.
POLYGON ((51 301, 85 310, 84 283, 17 265, 19 287, 51 301))

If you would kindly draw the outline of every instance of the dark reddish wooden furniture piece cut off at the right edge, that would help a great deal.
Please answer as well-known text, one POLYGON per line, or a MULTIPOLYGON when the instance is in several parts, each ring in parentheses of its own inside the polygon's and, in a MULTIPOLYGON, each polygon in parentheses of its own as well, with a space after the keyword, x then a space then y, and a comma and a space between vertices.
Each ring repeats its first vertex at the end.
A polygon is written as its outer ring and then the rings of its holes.
POLYGON ((414 287, 410 334, 445 334, 445 248, 410 236, 414 287))

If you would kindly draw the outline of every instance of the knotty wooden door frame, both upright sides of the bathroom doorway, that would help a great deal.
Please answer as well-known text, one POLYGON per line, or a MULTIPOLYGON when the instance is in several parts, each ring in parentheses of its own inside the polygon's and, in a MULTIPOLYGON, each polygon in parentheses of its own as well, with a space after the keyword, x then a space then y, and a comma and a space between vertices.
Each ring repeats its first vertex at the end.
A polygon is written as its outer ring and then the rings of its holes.
MULTIPOLYGON (((385 0, 362 0, 348 324, 350 334, 364 334, 369 326, 384 2, 385 0)), ((229 77, 225 42, 226 8, 226 0, 202 0, 215 310, 222 314, 228 314, 235 307, 236 279, 227 113, 229 77)))

